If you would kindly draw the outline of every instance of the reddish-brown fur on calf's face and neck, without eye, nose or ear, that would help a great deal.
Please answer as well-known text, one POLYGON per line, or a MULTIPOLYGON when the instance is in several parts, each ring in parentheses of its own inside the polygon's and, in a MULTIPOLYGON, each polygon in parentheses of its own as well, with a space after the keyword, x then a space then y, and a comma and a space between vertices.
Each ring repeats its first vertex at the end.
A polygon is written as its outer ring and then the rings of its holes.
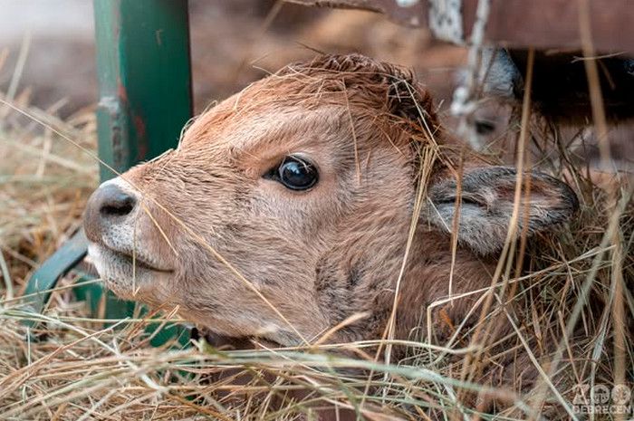
MULTIPOLYGON (((175 273, 137 295, 117 292, 178 305, 187 318, 226 337, 301 343, 156 200, 253 282, 304 339, 316 340, 360 312, 369 316, 331 340, 379 339, 405 256, 421 150, 437 155, 425 182, 454 177, 460 146, 409 72, 356 55, 288 66, 199 116, 177 151, 124 176, 146 196, 178 256, 140 215, 139 231, 151 239, 142 246, 175 273), (312 191, 290 192, 262 178, 298 151, 321 169, 312 191)), ((483 165, 466 153, 464 167, 483 165)), ((459 247, 453 292, 489 286, 494 267, 494 260, 459 247)), ((446 343, 481 296, 439 308, 426 321, 427 306, 447 296, 451 270, 450 236, 419 223, 401 283, 397 338, 419 338, 432 323, 433 340, 446 343)), ((498 320, 504 325, 504 317, 498 320)))

